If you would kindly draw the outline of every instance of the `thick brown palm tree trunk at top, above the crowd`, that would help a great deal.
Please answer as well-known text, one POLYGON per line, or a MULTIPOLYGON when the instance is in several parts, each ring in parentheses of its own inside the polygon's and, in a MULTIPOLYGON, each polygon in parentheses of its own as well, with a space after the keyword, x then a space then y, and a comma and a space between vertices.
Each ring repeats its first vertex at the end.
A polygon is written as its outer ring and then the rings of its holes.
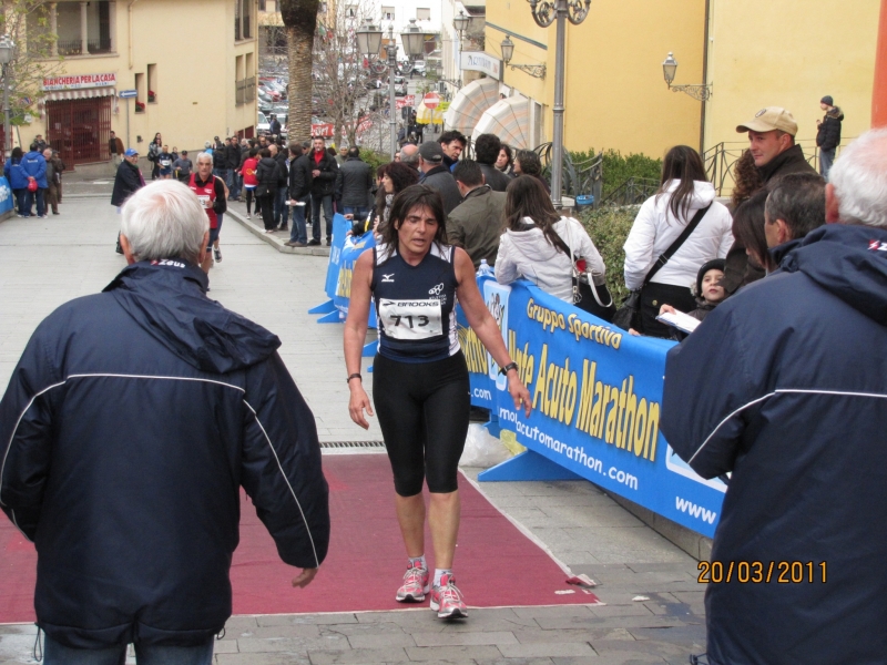
POLYGON ((289 59, 289 122, 292 139, 312 135, 312 51, 320 0, 278 0, 289 59))

